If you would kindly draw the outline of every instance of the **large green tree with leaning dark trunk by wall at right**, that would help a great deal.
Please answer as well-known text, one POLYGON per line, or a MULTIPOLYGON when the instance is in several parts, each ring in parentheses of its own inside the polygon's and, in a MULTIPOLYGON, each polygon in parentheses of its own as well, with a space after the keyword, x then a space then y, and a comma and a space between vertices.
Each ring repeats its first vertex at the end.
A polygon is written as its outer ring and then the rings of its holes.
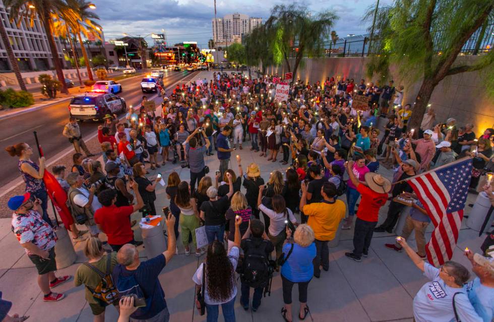
POLYGON ((486 89, 494 94, 494 51, 471 64, 457 57, 482 25, 492 23, 492 0, 395 0, 379 9, 369 8, 364 19, 376 16, 375 39, 369 52, 369 77, 386 79, 394 64, 398 73, 410 81, 422 79, 408 122, 417 128, 435 87, 446 77, 484 69, 486 89))

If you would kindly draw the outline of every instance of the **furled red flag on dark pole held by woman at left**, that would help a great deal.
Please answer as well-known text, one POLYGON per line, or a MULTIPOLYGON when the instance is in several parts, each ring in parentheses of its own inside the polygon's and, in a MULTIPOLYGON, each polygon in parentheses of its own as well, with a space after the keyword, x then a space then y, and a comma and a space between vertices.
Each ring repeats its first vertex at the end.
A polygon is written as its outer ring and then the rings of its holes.
MULTIPOLYGON (((38 141, 38 134, 36 131, 33 131, 34 140, 36 141, 36 147, 38 148, 38 154, 40 157, 43 157, 43 150, 41 149, 41 145, 38 141)), ((53 206, 53 214, 55 215, 55 221, 58 225, 58 219, 56 217, 56 213, 60 216, 61 221, 64 223, 66 229, 70 230, 70 226, 74 223, 74 219, 65 204, 67 202, 67 193, 64 188, 61 187, 58 180, 48 172, 48 170, 44 170, 43 173, 43 182, 46 187, 46 192, 48 193, 48 197, 50 197, 51 205, 53 206), (55 211, 56 210, 56 211, 55 211)))

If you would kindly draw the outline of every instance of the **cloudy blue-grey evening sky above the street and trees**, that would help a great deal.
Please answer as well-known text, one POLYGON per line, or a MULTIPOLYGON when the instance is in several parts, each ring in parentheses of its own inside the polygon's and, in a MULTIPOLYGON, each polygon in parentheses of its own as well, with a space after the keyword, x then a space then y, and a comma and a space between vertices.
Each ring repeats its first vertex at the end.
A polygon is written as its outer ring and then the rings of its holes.
MULTIPOLYGON (((391 0, 381 0, 388 4, 391 0)), ((207 48, 212 38, 211 19, 214 18, 214 0, 96 0, 96 13, 101 19, 105 40, 118 38, 123 32, 132 35, 160 33, 164 29, 168 43, 197 41, 199 47, 207 48)), ((271 8, 277 4, 290 4, 287 0, 217 0, 217 17, 235 12, 261 17, 266 20, 271 8)), ((367 25, 361 21, 365 9, 376 4, 376 0, 306 0, 302 4, 317 14, 322 10, 333 10, 340 19, 334 30, 340 37, 347 34, 365 33, 367 25)), ((151 38, 147 37, 149 43, 151 38)))

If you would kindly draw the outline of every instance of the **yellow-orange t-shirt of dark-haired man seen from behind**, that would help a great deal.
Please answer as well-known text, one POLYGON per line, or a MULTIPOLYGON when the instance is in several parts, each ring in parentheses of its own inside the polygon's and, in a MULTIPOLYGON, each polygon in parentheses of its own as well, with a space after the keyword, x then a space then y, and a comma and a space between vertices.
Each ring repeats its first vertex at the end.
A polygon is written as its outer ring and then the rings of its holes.
POLYGON ((341 200, 333 204, 326 202, 303 206, 303 213, 308 216, 307 225, 314 230, 318 240, 333 240, 340 221, 345 218, 346 206, 341 200))

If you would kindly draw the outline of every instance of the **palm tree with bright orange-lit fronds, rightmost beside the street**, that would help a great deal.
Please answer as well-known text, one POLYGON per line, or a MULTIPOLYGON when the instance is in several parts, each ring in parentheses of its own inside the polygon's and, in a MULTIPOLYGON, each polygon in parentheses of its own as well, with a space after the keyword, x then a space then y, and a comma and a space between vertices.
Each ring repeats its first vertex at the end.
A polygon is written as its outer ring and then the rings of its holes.
POLYGON ((81 33, 86 38, 88 38, 89 33, 93 33, 96 38, 101 40, 100 33, 102 27, 96 22, 96 20, 99 20, 99 17, 95 13, 91 12, 92 8, 94 8, 94 5, 90 2, 87 2, 86 0, 67 0, 67 3, 71 8, 77 11, 80 16, 80 19, 78 19, 77 23, 72 27, 72 30, 79 38, 81 51, 84 56, 84 61, 86 62, 86 68, 88 70, 88 77, 90 80, 93 80, 93 74, 91 72, 91 67, 89 66, 88 54, 86 52, 86 48, 84 48, 83 45, 83 43, 87 43, 89 50, 89 44, 91 42, 89 39, 83 42, 81 33))

